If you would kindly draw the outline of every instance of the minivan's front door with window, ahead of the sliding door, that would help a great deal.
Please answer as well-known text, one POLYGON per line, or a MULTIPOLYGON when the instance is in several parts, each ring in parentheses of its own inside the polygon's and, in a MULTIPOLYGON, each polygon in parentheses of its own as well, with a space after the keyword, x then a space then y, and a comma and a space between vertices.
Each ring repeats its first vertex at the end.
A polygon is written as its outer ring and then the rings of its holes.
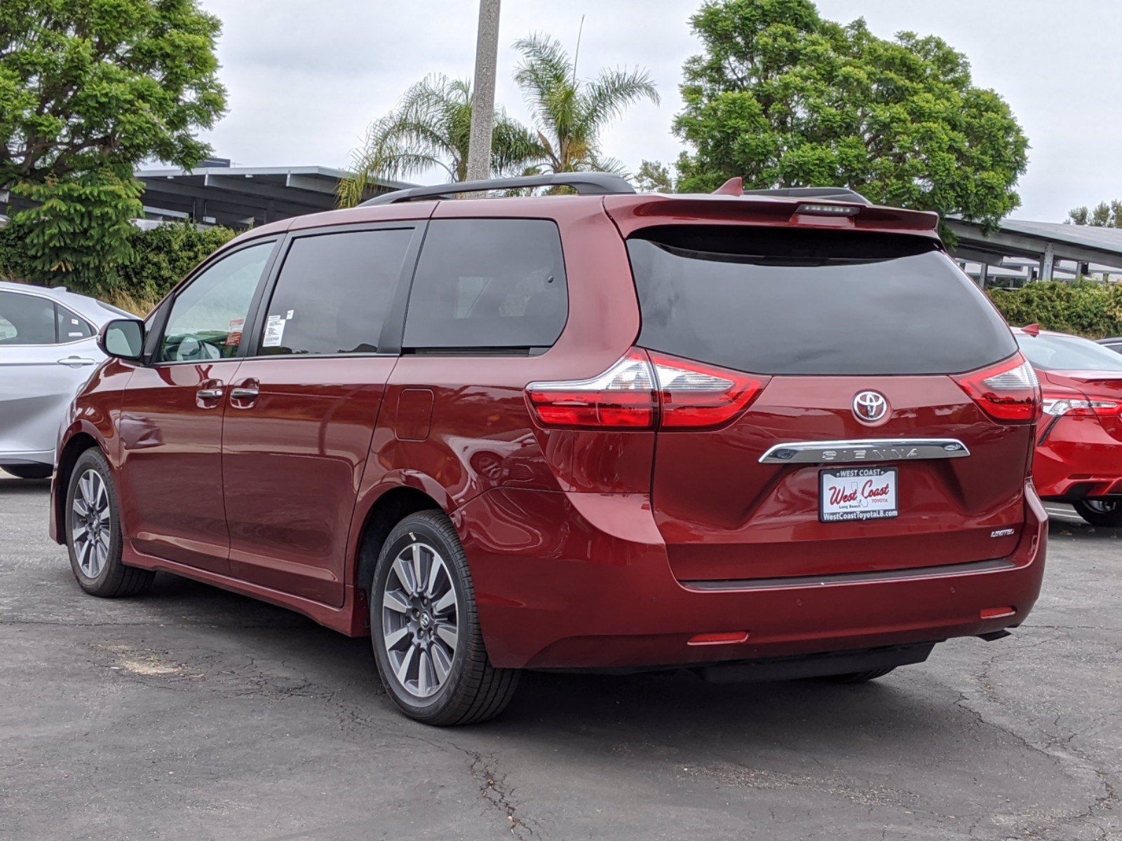
POLYGON ((275 240, 221 257, 176 293, 155 359, 125 389, 122 525, 145 554, 229 571, 222 415, 242 325, 275 240))

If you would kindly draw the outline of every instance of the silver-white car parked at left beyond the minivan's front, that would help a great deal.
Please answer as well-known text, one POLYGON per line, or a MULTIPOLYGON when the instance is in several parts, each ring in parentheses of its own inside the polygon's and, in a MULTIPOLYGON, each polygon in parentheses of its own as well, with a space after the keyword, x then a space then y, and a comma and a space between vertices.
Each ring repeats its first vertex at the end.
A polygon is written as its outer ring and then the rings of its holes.
POLYGON ((0 280, 0 468, 50 475, 66 406, 105 359, 98 331, 122 316, 64 288, 0 280))

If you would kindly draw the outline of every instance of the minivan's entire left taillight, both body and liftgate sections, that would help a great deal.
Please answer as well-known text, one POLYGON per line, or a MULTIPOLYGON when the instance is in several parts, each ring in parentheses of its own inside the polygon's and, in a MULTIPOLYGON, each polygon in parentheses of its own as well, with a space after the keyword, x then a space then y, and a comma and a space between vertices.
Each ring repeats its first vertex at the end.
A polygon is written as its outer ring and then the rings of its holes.
POLYGON ((634 349, 598 377, 531 382, 543 426, 700 429, 736 417, 766 379, 634 349))

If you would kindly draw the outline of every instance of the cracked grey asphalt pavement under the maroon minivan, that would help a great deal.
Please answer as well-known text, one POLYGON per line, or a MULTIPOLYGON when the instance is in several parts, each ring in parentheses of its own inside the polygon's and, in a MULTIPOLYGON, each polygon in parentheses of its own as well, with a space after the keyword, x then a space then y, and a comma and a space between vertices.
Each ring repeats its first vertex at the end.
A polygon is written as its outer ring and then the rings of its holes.
POLYGON ((169 575, 101 600, 0 474, 0 839, 1122 840, 1122 542, 1054 508, 1008 639, 864 685, 530 674, 403 719, 369 640, 169 575))

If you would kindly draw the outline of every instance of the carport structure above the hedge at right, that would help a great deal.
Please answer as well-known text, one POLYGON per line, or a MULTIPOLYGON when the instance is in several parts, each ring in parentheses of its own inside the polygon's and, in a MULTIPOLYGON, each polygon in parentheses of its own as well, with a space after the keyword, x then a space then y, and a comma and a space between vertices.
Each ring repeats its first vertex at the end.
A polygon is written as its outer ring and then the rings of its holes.
POLYGON ((945 219, 958 242, 950 253, 984 288, 1030 280, 1122 279, 1122 229, 1002 220, 997 230, 945 219))

